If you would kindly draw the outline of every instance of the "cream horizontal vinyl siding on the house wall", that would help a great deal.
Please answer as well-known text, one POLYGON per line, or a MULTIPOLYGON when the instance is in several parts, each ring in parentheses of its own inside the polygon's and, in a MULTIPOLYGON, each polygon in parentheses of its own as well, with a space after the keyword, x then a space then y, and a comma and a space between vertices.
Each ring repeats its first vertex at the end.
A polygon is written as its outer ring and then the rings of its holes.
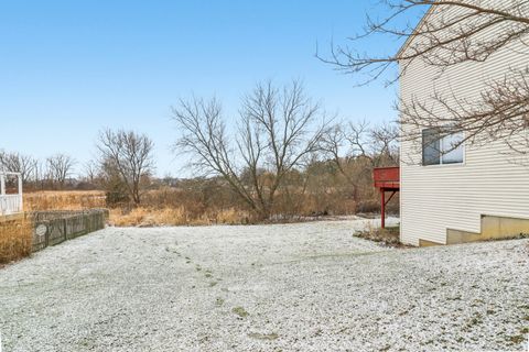
MULTIPOLYGON (((523 44, 505 48, 485 63, 457 65, 441 75, 417 61, 400 79, 401 97, 428 100, 436 90, 472 101, 479 99, 486 82, 528 63, 529 50, 523 44)), ((422 166, 421 143, 402 143, 402 242, 446 243, 447 229, 481 232, 484 215, 529 219, 529 164, 519 163, 518 155, 501 142, 465 145, 463 153, 463 163, 422 166)))

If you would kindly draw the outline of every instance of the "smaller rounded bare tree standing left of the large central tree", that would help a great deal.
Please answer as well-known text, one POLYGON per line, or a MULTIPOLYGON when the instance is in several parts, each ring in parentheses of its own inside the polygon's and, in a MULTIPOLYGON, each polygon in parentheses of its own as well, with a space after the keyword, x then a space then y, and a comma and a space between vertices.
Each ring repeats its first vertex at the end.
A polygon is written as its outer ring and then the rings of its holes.
POLYGON ((99 134, 97 148, 101 168, 115 169, 130 199, 139 206, 145 190, 145 180, 154 170, 152 140, 145 134, 132 131, 106 130, 99 134))

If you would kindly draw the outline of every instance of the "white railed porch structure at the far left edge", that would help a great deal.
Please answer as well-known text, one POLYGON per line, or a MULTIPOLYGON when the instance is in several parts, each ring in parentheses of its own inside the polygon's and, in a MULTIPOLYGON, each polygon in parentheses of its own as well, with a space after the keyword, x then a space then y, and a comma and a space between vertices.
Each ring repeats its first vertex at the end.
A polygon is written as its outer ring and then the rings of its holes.
POLYGON ((22 176, 0 172, 0 217, 22 212, 22 176))

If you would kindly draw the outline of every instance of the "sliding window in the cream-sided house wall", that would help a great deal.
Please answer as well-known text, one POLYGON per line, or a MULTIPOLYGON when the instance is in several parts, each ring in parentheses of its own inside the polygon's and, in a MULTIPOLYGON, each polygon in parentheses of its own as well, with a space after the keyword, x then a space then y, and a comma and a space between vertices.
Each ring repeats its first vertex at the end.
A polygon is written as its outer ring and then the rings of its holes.
POLYGON ((444 134, 441 129, 422 130, 422 165, 463 163, 463 133, 444 134))

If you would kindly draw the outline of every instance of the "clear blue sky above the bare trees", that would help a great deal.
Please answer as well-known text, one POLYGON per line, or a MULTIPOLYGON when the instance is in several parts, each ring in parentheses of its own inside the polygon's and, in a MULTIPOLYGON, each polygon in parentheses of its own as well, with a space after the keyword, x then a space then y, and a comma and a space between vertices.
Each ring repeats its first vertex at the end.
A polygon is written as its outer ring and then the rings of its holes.
MULTIPOLYGON (((396 87, 355 88, 314 57, 364 24, 377 0, 17 0, 0 2, 0 148, 82 164, 104 128, 144 132, 160 176, 188 176, 170 107, 216 96, 228 116, 256 81, 302 79, 344 119, 396 119, 396 87)), ((363 50, 397 50, 376 41, 363 50)))

